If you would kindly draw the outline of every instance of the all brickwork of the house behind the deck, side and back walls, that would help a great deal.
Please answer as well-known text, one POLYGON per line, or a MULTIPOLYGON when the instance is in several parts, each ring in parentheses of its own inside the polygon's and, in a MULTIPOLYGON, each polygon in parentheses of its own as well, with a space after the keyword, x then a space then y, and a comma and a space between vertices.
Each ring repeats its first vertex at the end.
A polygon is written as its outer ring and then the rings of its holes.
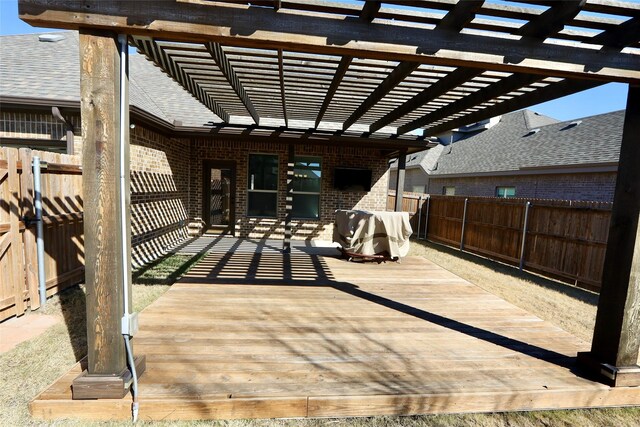
MULTIPOLYGON (((81 155, 80 117, 76 154, 81 155)), ((61 140, 64 125, 46 112, 0 113, 0 137, 61 140)), ((134 266, 148 263, 187 238, 186 225, 202 216, 203 160, 232 160, 236 164, 235 234, 238 237, 283 238, 286 202, 287 144, 202 138, 171 138, 138 124, 131 137, 131 228, 134 266), (277 218, 248 218, 247 162, 250 153, 277 154, 279 191, 277 218)), ((322 158, 319 220, 293 220, 295 239, 330 240, 336 209, 385 210, 389 174, 379 150, 353 147, 296 146, 297 155, 322 158), (333 189, 335 167, 372 169, 372 189, 342 192, 333 189)))

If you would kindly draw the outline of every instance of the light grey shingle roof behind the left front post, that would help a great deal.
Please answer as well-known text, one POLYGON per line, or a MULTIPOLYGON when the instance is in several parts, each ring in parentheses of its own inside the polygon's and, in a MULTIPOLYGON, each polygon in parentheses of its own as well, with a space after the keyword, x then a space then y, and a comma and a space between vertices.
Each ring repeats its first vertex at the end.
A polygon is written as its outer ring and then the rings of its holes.
MULTIPOLYGON (((48 34, 48 33, 44 33, 48 34)), ((0 96, 80 102, 78 33, 0 37, 0 96)), ((129 103, 168 123, 202 127, 219 119, 142 55, 129 57, 129 103)))

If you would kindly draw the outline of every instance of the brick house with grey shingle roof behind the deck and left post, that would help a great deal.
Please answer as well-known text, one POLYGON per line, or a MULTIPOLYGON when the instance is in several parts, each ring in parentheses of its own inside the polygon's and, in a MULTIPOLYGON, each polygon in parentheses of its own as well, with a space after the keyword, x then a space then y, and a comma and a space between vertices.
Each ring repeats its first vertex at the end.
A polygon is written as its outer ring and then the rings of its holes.
MULTIPOLYGON (((131 55, 129 67, 134 265, 187 239, 194 220, 237 237, 283 238, 292 143, 296 179, 306 178, 300 185, 312 187, 294 196, 293 239, 330 240, 338 208, 385 210, 392 150, 358 144, 357 138, 327 144, 312 135, 298 144, 295 135, 264 127, 214 128, 215 115, 144 55, 131 55), (370 191, 334 188, 336 168, 370 170, 370 191), (225 188, 235 189, 231 194, 217 192, 223 175, 231 184, 225 188)), ((73 126, 73 151, 81 154, 79 69, 76 32, 3 36, 0 145, 66 151, 67 127, 51 112, 59 107, 73 126)))

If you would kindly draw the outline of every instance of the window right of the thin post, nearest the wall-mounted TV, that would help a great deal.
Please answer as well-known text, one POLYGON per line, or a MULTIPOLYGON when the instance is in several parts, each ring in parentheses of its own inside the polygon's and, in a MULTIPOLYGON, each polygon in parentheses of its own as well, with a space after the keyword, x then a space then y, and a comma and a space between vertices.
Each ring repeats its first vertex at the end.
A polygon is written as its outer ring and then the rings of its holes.
POLYGON ((322 159, 296 156, 293 166, 293 218, 320 218, 322 159))

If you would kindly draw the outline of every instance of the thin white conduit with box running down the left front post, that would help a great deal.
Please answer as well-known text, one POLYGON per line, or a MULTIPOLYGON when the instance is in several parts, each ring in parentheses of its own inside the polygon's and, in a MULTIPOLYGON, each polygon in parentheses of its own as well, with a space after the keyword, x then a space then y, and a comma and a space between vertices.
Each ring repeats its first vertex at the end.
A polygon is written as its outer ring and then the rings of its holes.
POLYGON ((127 189, 127 177, 126 177, 126 164, 125 164, 125 149, 127 148, 127 127, 128 123, 125 123, 127 118, 127 109, 129 106, 126 103, 126 92, 125 85, 127 81, 127 64, 129 61, 129 47, 127 44, 127 35, 119 34, 118 35, 118 43, 120 50, 120 240, 122 247, 120 248, 120 253, 122 255, 122 297, 124 300, 123 304, 123 315, 122 315, 122 336, 124 338, 124 345, 127 353, 127 361, 129 364, 129 370, 131 371, 132 377, 132 385, 131 385, 131 396, 133 398, 133 403, 131 404, 131 415, 133 417, 133 422, 138 420, 138 375, 136 373, 136 364, 133 358, 133 351, 131 349, 131 338, 133 334, 137 330, 137 317, 135 315, 129 314, 129 268, 131 260, 127 256, 127 213, 125 210, 126 207, 126 191, 127 189))

